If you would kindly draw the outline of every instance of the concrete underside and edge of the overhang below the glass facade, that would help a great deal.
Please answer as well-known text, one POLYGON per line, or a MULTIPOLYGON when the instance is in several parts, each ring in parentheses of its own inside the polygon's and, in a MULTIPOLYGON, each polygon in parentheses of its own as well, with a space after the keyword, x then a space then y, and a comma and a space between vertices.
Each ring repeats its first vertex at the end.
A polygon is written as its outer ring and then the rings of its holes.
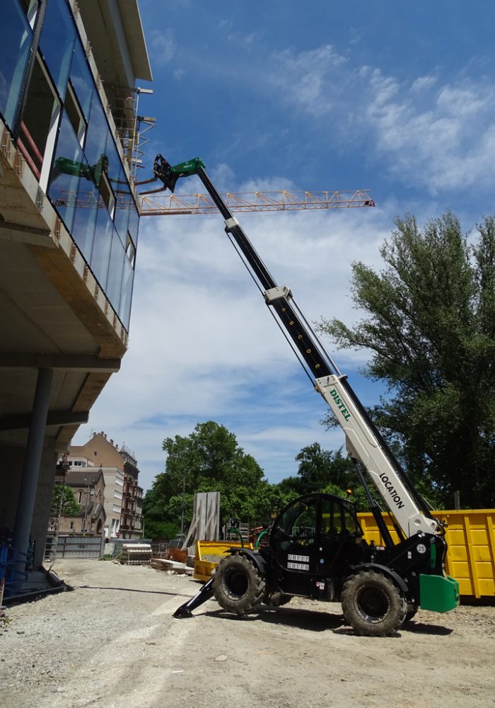
POLYGON ((127 331, 0 121, 0 443, 24 445, 37 373, 46 434, 68 444, 120 368, 127 331))

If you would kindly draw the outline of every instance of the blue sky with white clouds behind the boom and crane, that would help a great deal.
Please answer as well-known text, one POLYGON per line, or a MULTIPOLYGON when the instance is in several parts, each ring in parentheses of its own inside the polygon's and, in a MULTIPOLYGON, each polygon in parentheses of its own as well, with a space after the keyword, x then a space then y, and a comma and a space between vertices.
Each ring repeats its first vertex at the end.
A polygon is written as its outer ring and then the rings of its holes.
MULTIPOLYGON (((139 5, 154 91, 140 112, 157 118, 150 162, 201 156, 224 191, 371 191, 375 209, 238 217, 311 321, 359 319, 350 264, 380 268, 395 216, 424 223, 450 209, 470 232, 494 212, 491 3, 139 5)), ((325 344, 363 403, 378 401, 383 387, 359 373, 366 353, 325 344)), ((163 438, 214 420, 276 482, 296 474, 305 445, 344 444, 320 426, 325 413, 220 215, 141 219, 129 351, 74 442, 105 430, 134 450, 148 489, 163 438)))

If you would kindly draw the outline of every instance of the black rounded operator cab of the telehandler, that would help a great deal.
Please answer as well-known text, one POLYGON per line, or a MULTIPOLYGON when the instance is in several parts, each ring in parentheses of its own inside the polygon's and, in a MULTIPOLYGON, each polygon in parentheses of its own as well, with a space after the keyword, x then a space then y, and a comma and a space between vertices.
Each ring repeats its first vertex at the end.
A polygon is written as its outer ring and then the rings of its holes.
POLYGON ((270 534, 281 590, 314 595, 318 578, 339 578, 349 558, 362 556, 363 531, 354 503, 333 494, 299 497, 276 518, 270 534))

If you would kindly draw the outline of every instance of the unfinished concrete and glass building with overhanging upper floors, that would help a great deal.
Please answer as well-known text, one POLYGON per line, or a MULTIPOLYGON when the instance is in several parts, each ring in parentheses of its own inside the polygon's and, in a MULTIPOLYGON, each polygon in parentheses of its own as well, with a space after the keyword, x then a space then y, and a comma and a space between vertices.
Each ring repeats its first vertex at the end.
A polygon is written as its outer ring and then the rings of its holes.
POLYGON ((0 530, 21 583, 57 459, 127 348, 151 69, 136 0, 4 0, 0 39, 0 530))

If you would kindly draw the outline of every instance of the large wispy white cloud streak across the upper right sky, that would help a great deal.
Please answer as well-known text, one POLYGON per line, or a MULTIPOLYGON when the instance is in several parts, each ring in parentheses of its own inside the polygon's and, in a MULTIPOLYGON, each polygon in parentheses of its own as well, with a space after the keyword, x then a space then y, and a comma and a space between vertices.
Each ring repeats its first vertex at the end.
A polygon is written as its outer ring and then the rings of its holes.
POLYGON ((311 120, 327 121, 330 135, 366 141, 380 169, 430 194, 481 183, 495 185, 495 89, 483 77, 438 75, 399 81, 376 67, 353 64, 330 45, 274 52, 267 82, 279 99, 311 120))

